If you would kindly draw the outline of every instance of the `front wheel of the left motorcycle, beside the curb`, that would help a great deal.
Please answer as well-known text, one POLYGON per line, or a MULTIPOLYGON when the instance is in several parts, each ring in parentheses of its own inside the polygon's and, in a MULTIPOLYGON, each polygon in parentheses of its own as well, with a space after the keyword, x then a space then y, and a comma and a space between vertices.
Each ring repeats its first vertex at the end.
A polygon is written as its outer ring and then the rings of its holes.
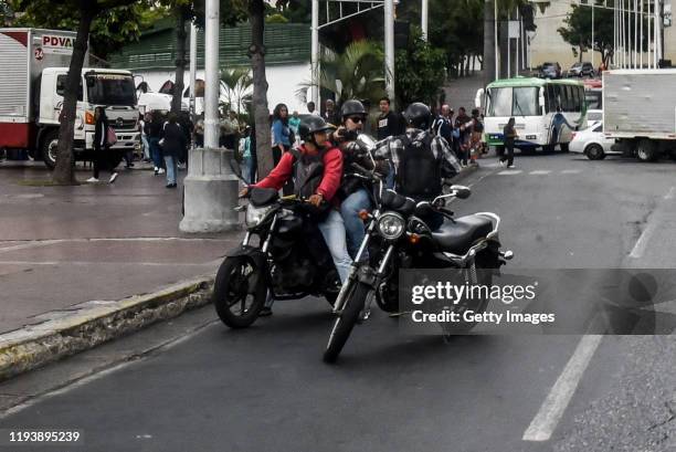
POLYGON ((267 294, 262 273, 251 256, 223 261, 213 285, 213 304, 221 322, 231 328, 246 328, 258 318, 267 294))

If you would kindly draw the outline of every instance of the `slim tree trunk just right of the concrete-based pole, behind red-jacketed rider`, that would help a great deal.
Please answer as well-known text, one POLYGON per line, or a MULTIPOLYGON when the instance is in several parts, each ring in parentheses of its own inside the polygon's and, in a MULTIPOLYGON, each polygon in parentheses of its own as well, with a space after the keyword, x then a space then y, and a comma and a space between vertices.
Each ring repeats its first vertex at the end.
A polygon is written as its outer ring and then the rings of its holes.
POLYGON ((251 66, 253 71, 253 114, 256 128, 256 158, 258 179, 267 176, 273 168, 270 137, 270 109, 267 108, 267 80, 265 77, 265 4, 263 0, 249 1, 251 21, 251 66))

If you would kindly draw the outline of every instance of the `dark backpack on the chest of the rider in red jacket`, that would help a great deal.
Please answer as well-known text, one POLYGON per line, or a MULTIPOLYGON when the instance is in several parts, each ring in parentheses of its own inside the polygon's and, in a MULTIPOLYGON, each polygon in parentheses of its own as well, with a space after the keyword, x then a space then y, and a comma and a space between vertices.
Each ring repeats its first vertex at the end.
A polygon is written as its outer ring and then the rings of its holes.
MULTIPOLYGON (((294 160, 292 162, 292 177, 294 180, 294 195, 300 199, 309 199, 317 192, 317 188, 324 178, 324 151, 319 151, 315 156, 303 154, 296 148, 288 150, 294 160)), ((326 200, 318 208, 310 206, 305 207, 308 213, 314 217, 324 217, 330 210, 330 206, 326 200)))

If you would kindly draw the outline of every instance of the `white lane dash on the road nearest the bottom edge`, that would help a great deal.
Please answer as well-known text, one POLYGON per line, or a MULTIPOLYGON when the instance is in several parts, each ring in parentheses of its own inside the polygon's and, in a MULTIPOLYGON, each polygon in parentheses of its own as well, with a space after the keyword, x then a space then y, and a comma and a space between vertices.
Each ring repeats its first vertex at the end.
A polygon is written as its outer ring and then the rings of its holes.
POLYGON ((551 438, 602 339, 602 335, 582 336, 575 353, 526 429, 524 441, 548 441, 551 438))

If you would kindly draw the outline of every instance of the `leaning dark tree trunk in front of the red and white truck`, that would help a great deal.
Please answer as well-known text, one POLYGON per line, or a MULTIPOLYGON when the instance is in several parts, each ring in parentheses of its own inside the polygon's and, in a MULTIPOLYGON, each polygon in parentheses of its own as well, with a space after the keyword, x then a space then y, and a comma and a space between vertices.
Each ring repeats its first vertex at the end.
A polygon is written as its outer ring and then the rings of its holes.
POLYGON ((63 96, 63 108, 60 115, 59 148, 56 150, 56 167, 52 175, 54 183, 63 186, 77 185, 75 179, 75 160, 73 157, 73 141, 75 135, 75 117, 77 115, 77 96, 81 90, 82 67, 87 53, 87 41, 92 21, 96 17, 96 3, 88 0, 80 2, 80 24, 77 36, 73 44, 73 56, 68 66, 65 93, 63 96))

